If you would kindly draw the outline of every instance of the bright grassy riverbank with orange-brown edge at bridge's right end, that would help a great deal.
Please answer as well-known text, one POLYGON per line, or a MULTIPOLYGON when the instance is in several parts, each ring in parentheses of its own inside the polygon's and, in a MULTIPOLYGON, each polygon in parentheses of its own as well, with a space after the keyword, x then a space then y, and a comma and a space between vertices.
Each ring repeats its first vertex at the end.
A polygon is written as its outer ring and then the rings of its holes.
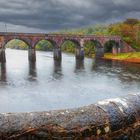
POLYGON ((131 63, 140 63, 140 52, 120 53, 117 55, 106 53, 103 58, 109 60, 131 62, 131 63))

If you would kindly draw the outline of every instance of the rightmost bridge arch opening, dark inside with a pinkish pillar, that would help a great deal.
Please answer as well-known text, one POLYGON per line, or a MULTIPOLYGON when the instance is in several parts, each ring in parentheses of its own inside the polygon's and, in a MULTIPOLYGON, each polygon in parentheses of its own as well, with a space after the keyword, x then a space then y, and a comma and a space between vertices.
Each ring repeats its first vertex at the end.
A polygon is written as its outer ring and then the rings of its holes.
POLYGON ((120 52, 119 42, 116 40, 108 40, 104 44, 104 52, 105 53, 113 53, 117 54, 120 52))

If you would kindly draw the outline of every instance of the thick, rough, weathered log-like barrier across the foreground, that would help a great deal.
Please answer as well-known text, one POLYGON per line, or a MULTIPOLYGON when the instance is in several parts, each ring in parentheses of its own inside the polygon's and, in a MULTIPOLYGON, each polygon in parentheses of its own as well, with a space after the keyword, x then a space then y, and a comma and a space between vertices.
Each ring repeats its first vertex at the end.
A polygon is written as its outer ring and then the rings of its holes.
POLYGON ((0 114, 0 140, 139 140, 140 96, 77 109, 0 114))

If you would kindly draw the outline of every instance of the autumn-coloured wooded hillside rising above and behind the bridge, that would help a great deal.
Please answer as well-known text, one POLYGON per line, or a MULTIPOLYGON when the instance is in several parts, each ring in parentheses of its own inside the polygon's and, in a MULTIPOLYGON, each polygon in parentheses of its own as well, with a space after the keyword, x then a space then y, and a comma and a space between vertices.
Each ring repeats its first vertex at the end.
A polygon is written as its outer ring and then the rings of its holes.
MULTIPOLYGON (((138 19, 128 18, 123 22, 115 24, 93 25, 85 28, 63 30, 58 33, 80 35, 119 35, 131 47, 140 51, 140 20, 138 19)), ((85 50, 87 50, 87 48, 85 48, 85 50)))

